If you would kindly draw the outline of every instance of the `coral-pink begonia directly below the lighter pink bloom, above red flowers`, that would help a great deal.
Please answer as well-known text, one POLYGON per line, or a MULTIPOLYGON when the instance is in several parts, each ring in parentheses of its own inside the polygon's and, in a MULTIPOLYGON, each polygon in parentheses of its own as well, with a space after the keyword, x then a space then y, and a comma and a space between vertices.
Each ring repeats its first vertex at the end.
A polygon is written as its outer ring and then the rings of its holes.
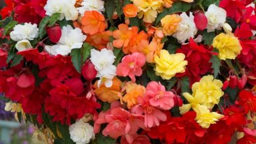
POLYGON ((139 97, 137 99, 139 105, 132 107, 131 112, 137 115, 144 113, 144 125, 147 128, 159 126, 160 121, 165 121, 167 119, 165 113, 158 109, 158 107, 150 105, 147 97, 139 97))

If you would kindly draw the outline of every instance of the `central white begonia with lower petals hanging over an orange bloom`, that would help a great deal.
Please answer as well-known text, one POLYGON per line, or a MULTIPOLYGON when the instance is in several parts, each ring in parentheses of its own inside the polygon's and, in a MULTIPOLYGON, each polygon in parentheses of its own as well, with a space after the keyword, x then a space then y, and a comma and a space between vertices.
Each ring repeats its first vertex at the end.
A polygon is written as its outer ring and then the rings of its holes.
POLYGON ((106 48, 101 51, 91 50, 90 60, 95 65, 96 71, 98 71, 96 77, 100 77, 98 86, 102 83, 108 88, 112 86, 112 79, 116 76, 116 65, 113 65, 115 58, 116 56, 114 56, 112 50, 107 50, 106 48))

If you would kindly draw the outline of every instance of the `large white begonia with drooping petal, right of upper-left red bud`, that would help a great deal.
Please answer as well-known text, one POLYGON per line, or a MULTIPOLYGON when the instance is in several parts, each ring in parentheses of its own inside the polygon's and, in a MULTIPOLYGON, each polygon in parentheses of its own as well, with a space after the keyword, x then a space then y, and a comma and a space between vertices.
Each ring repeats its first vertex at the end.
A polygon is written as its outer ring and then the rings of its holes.
POLYGON ((72 49, 81 48, 83 46, 83 41, 87 38, 87 36, 83 35, 82 30, 78 27, 73 29, 72 26, 68 25, 62 27, 61 31, 62 35, 57 45, 45 46, 47 52, 53 56, 58 54, 67 56, 70 54, 72 49))

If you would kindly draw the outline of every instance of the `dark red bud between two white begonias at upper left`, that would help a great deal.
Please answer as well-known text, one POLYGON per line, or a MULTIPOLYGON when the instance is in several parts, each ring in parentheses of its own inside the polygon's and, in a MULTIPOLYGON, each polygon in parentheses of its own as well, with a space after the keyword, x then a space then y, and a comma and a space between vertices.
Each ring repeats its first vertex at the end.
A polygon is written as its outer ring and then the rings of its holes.
POLYGON ((47 29, 47 34, 49 35, 50 41, 53 43, 58 43, 62 35, 60 26, 52 26, 47 29))

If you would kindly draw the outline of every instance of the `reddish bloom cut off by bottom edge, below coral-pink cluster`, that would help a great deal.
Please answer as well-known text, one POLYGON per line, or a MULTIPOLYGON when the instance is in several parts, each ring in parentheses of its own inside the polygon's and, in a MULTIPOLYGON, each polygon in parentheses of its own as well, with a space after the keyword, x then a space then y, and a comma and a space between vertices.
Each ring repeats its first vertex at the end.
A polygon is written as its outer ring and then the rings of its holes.
POLYGON ((150 139, 148 138, 147 135, 125 135, 121 137, 120 140, 121 144, 138 144, 138 143, 143 143, 143 144, 150 144, 150 139))

